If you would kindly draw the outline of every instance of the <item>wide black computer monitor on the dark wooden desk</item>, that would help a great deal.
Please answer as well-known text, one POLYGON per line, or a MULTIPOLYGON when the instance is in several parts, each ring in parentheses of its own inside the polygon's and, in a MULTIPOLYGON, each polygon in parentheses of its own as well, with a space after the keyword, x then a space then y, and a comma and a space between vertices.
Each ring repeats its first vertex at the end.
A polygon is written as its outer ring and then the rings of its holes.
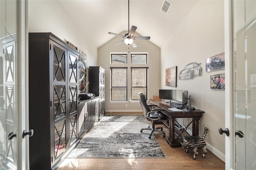
POLYGON ((185 107, 185 105, 188 104, 188 91, 177 89, 160 89, 159 98, 170 100, 170 102, 177 103, 182 105, 182 107, 185 107))

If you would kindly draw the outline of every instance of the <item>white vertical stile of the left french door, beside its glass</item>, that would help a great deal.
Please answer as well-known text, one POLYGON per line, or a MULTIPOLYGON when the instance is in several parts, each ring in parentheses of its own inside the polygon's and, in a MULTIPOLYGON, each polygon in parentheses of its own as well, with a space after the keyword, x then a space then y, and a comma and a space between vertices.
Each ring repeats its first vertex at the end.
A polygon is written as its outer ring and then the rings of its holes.
POLYGON ((23 130, 28 131, 28 1, 18 0, 18 167, 29 169, 28 135, 22 138, 23 130))

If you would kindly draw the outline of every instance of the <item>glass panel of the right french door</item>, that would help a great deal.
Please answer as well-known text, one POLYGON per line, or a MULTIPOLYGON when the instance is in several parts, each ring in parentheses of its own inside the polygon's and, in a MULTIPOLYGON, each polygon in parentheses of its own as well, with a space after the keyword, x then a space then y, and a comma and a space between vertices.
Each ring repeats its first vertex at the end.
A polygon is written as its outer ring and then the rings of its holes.
POLYGON ((256 1, 232 1, 233 169, 256 169, 256 1))

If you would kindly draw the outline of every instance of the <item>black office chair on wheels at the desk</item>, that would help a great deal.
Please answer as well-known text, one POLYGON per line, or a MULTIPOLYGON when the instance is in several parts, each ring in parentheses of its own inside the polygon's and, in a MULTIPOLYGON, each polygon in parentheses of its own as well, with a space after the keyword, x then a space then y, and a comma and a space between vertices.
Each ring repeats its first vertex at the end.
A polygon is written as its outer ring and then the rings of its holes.
POLYGON ((155 106, 155 105, 147 104, 146 97, 143 93, 139 92, 138 96, 139 96, 139 101, 140 101, 140 105, 142 107, 144 116, 146 117, 146 119, 152 122, 152 127, 149 125, 148 128, 142 128, 140 132, 142 132, 142 130, 151 130, 151 133, 148 136, 148 138, 151 138, 151 135, 153 134, 153 132, 160 132, 163 134, 163 137, 165 137, 163 128, 155 127, 156 121, 159 121, 159 120, 166 121, 166 119, 168 118, 164 113, 161 112, 161 111, 164 111, 164 109, 150 109, 152 106, 155 106))

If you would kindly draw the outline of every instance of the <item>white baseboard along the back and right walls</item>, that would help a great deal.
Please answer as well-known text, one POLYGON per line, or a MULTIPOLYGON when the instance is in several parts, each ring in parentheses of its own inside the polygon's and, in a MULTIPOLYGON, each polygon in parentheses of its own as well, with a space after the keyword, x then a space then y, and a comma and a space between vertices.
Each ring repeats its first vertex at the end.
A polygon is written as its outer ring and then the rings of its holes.
MULTIPOLYGON (((142 110, 105 110, 105 112, 112 112, 112 113, 116 113, 116 112, 143 112, 142 110)), ((187 130, 188 133, 191 135, 192 132, 190 130, 187 130)), ((214 155, 216 155, 218 158, 220 158, 220 160, 222 160, 223 162, 225 162, 225 154, 223 154, 222 152, 220 152, 219 150, 217 150, 216 148, 214 148, 212 145, 210 145, 208 142, 206 142, 206 146, 207 149, 212 152, 214 155)))

